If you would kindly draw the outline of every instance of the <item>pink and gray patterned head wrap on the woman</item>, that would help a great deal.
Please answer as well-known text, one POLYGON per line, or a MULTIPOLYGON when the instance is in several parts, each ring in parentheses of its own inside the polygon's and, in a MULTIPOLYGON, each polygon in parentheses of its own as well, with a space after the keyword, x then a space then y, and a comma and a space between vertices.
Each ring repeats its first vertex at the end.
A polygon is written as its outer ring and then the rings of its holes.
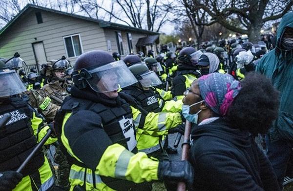
POLYGON ((212 73, 198 78, 200 95, 209 108, 218 115, 224 116, 238 95, 241 86, 239 81, 228 74, 212 73))

